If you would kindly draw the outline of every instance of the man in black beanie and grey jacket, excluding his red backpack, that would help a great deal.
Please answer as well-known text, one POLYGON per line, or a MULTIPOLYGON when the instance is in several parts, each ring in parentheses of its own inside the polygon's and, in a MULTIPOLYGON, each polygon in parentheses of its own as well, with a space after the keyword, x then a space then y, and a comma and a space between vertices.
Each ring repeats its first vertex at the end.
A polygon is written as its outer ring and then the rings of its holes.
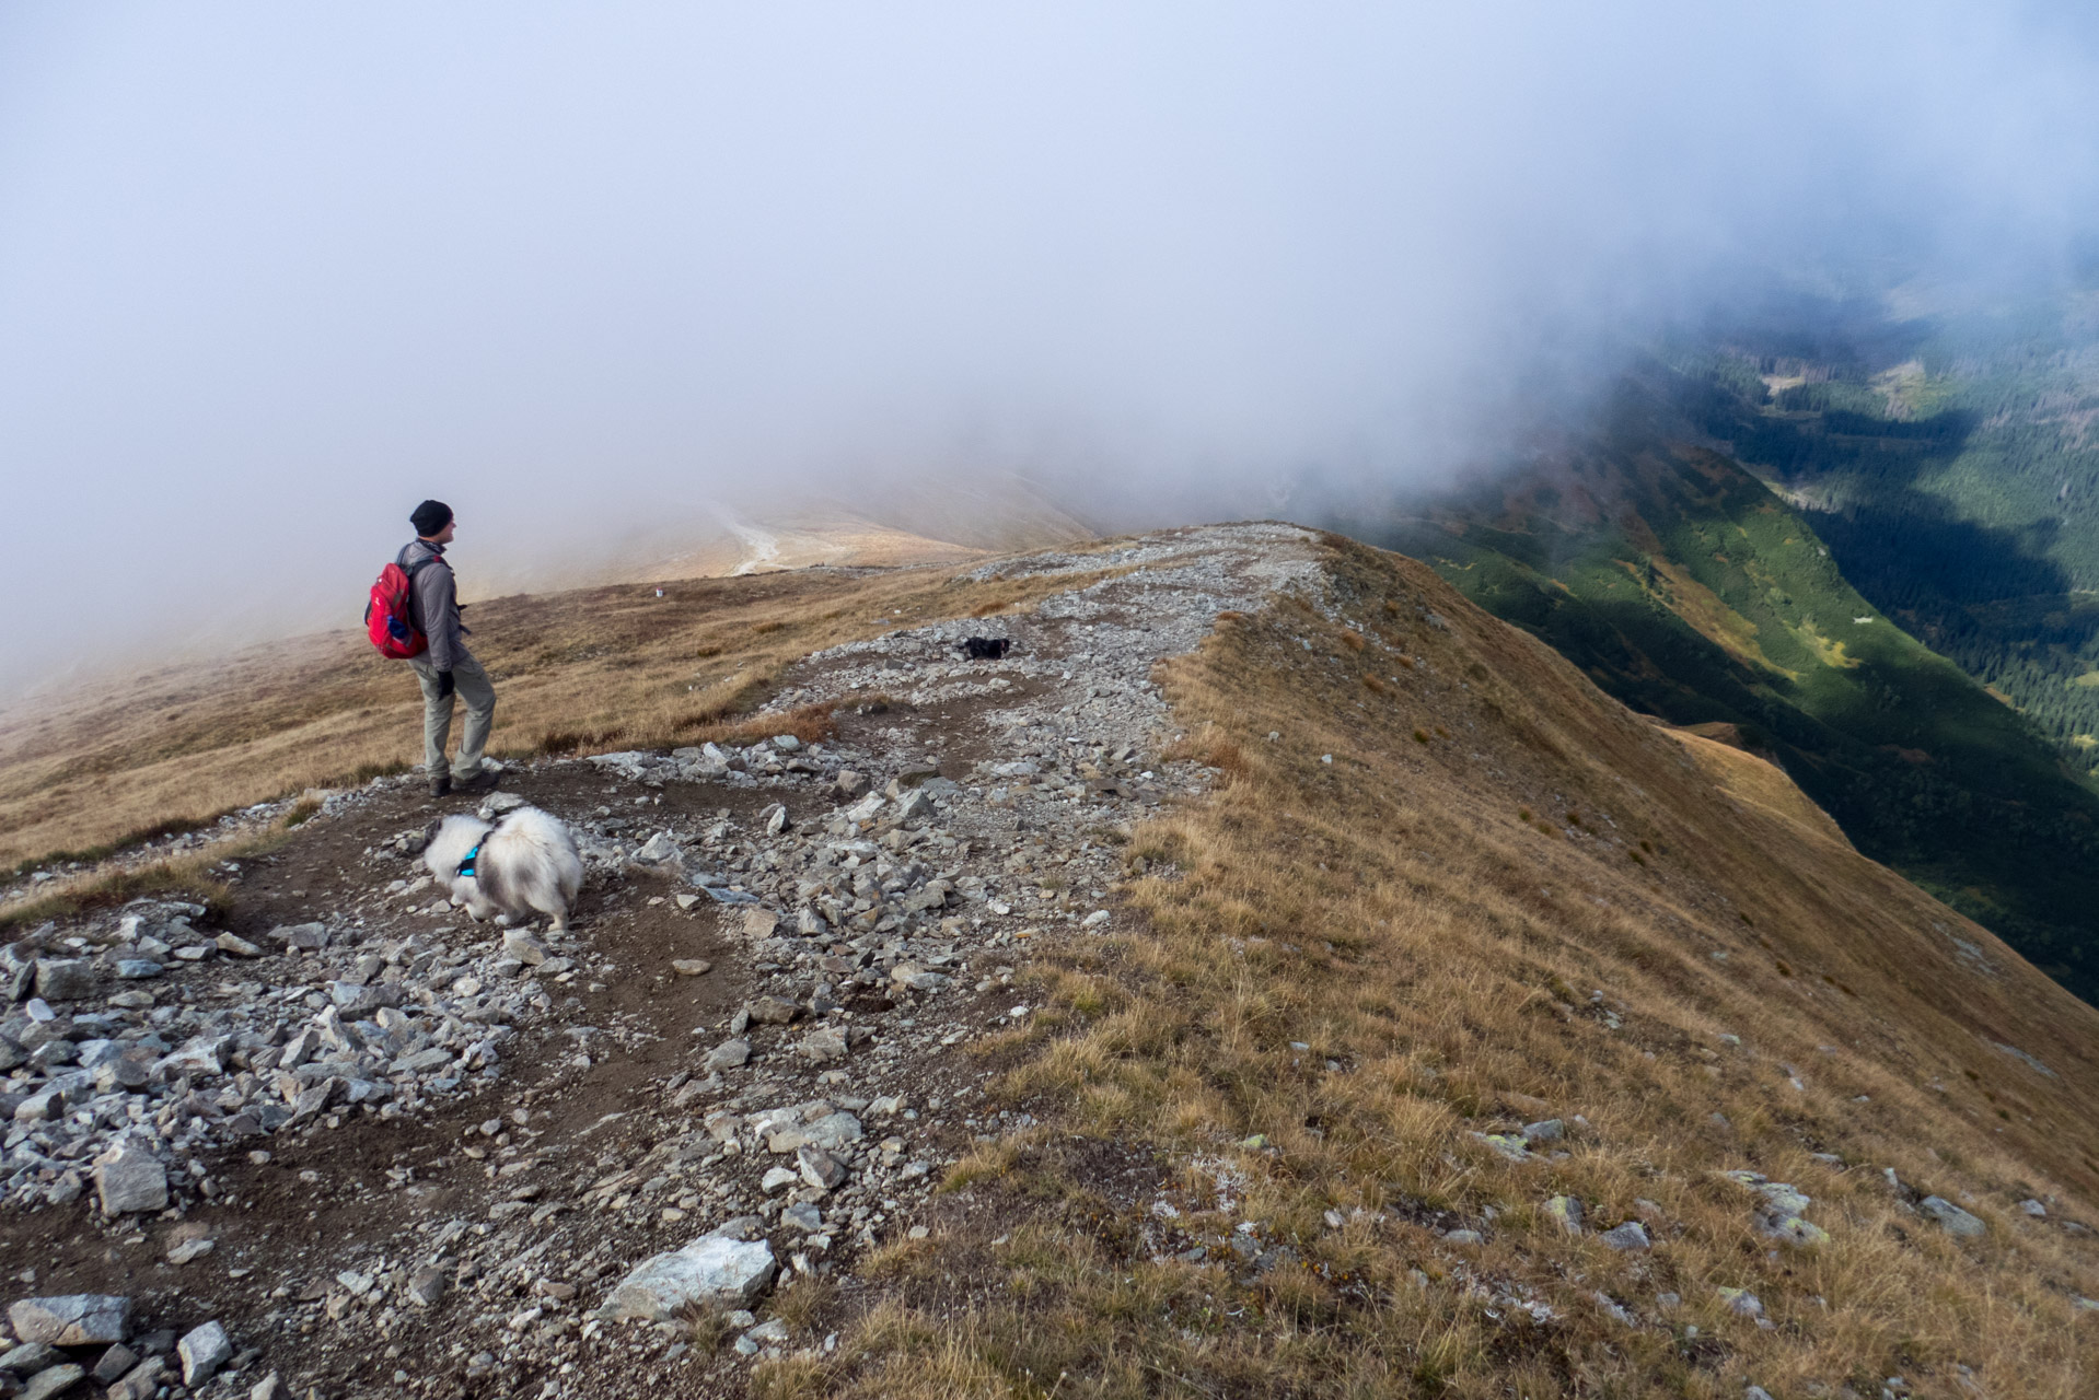
POLYGON ((409 607, 416 630, 428 638, 428 651, 407 659, 422 684, 422 768, 430 775, 430 796, 458 791, 489 791, 495 772, 481 762, 495 722, 495 686, 489 674, 466 651, 470 636, 460 625, 460 596, 445 563, 455 523, 445 502, 424 502, 409 514, 416 539, 395 558, 409 575, 409 607), (445 739, 451 735, 451 697, 466 701, 466 733, 460 735, 460 756, 445 766, 445 739))

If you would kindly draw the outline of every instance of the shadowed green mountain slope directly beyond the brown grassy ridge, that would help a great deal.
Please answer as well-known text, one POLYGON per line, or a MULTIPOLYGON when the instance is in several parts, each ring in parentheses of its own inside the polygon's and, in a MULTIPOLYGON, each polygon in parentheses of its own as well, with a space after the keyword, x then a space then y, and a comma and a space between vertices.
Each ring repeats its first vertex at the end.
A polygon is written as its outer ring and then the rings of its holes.
POLYGON ((1589 445, 1352 533, 1434 563, 1625 703, 1736 726, 1860 850, 2099 997, 2099 793, 1868 604, 1797 510, 1669 426, 1667 397, 1629 386, 1589 445))

